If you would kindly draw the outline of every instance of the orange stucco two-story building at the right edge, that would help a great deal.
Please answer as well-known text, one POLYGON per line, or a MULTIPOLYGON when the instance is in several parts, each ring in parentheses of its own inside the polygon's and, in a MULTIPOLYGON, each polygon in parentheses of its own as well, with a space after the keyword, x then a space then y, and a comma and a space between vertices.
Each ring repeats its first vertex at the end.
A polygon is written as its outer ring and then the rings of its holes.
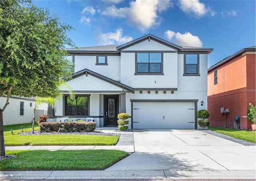
POLYGON ((244 48, 208 69, 208 111, 210 124, 234 128, 236 115, 240 128, 251 129, 246 118, 249 102, 256 104, 255 46, 244 48), (221 108, 228 112, 221 113, 221 108))

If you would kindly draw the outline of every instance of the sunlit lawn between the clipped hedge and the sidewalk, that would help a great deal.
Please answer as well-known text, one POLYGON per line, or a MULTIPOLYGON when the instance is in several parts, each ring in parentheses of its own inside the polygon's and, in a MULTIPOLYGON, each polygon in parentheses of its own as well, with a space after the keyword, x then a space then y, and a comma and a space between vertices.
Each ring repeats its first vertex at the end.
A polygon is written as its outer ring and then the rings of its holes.
MULTIPOLYGON (((20 126, 24 124, 14 124, 4 126, 5 146, 25 146, 25 145, 115 145, 118 136, 98 136, 98 135, 18 135, 21 133, 20 126), (11 134, 11 130, 13 134, 11 134)), ((35 125, 35 130, 38 130, 35 125)), ((23 127, 24 132, 32 130, 32 124, 23 127)))

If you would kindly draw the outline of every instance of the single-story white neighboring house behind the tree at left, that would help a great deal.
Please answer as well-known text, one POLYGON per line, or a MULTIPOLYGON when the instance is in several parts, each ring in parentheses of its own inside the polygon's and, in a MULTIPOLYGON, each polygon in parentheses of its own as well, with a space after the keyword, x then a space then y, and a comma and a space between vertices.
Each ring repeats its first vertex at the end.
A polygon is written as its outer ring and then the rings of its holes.
MULTIPOLYGON (((3 108, 6 103, 6 97, 0 98, 0 107, 3 108)), ((35 98, 21 98, 12 96, 9 99, 9 105, 3 112, 4 125, 23 124, 32 122, 35 98)), ((48 104, 42 103, 36 109, 35 118, 47 114, 48 104)))

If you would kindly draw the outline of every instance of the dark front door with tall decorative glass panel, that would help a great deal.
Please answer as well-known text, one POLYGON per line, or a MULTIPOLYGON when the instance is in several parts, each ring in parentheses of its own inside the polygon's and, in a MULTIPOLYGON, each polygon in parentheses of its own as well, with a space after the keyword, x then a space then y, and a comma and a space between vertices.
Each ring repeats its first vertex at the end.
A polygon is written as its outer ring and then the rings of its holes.
POLYGON ((104 126, 116 126, 118 95, 104 95, 104 126))

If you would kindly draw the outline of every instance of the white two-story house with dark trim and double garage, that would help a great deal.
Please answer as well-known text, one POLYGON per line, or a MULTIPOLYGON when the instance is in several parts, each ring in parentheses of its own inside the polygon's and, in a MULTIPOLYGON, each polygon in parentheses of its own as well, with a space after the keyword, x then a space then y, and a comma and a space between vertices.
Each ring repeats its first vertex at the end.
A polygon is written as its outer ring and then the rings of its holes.
POLYGON ((124 45, 67 49, 74 62, 55 119, 94 118, 116 126, 130 114, 129 128, 197 129, 197 111, 207 109, 207 57, 211 48, 178 46, 152 34, 124 45), (201 103, 202 102, 202 103, 201 103), (202 104, 202 105, 201 105, 202 104))

